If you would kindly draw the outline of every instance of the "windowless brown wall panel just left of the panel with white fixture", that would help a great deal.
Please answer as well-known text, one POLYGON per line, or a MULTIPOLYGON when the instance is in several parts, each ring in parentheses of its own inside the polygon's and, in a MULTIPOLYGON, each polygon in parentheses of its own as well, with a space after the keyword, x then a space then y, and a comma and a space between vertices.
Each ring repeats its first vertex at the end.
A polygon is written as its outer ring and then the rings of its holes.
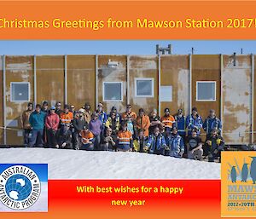
POLYGON ((96 105, 96 56, 67 55, 67 103, 78 110, 85 102, 96 105))

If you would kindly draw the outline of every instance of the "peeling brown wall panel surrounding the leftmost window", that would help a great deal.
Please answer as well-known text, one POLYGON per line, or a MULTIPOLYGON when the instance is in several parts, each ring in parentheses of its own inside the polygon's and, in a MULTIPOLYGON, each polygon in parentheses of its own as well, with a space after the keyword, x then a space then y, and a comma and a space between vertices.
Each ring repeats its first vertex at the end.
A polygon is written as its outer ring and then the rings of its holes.
MULTIPOLYGON (((27 102, 10 100, 11 82, 29 82, 30 98, 33 101, 33 56, 6 56, 6 121, 7 127, 20 129, 20 115, 26 109, 27 102)), ((7 130, 8 144, 21 144, 22 132, 7 130)))

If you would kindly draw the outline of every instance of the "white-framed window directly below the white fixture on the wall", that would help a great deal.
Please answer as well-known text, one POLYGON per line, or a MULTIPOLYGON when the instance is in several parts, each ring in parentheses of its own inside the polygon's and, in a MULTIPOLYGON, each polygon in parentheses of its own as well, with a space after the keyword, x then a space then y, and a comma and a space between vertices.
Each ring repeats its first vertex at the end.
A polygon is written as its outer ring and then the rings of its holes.
POLYGON ((103 82, 103 101, 123 101, 123 83, 103 82))

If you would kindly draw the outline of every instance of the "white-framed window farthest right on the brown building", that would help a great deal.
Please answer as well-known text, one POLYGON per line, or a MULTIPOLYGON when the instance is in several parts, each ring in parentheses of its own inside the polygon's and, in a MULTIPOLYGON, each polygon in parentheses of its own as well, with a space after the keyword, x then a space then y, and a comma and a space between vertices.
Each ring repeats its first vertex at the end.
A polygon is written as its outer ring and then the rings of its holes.
POLYGON ((196 101, 216 101, 216 81, 197 81, 196 101))

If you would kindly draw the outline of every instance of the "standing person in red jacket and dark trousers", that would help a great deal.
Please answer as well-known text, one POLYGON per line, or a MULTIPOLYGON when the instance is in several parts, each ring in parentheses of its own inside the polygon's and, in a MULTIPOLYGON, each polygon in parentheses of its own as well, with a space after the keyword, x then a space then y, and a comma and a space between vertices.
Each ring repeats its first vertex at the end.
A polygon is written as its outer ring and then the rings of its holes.
POLYGON ((60 123, 59 115, 55 113, 55 107, 50 107, 49 115, 45 119, 47 145, 48 147, 59 148, 56 140, 56 132, 60 123))

